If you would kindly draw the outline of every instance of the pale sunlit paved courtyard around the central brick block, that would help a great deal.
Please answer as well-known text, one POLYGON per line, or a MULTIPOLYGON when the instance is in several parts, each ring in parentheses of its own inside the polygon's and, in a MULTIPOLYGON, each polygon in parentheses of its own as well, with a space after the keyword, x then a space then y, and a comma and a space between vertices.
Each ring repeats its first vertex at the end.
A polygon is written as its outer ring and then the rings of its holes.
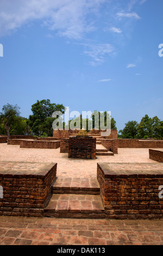
POLYGON ((0 144, 0 161, 57 162, 57 176, 95 178, 98 162, 155 163, 148 149, 118 149, 118 155, 97 156, 96 160, 68 159, 60 149, 22 149, 19 145, 0 144))

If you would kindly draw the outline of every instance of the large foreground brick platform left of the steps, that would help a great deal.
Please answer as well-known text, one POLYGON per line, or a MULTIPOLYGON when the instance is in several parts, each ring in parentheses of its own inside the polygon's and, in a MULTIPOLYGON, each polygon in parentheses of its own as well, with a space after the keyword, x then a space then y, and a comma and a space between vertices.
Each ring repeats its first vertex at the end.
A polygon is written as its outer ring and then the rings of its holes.
POLYGON ((57 163, 2 161, 0 215, 41 217, 56 173, 57 163))

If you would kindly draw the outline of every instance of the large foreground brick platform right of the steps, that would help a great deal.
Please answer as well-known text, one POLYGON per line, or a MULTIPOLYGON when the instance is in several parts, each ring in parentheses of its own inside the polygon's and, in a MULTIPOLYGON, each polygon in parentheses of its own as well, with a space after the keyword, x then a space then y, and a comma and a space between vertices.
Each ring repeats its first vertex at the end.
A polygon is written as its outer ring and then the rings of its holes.
POLYGON ((161 163, 98 163, 97 179, 108 218, 162 218, 161 163))

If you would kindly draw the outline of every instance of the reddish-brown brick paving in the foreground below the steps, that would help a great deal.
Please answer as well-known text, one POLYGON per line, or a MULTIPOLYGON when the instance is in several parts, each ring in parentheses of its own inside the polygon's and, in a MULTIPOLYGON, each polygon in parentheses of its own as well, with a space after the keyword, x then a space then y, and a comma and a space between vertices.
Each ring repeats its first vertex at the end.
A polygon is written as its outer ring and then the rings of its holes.
POLYGON ((0 217, 0 245, 163 245, 163 221, 0 217))

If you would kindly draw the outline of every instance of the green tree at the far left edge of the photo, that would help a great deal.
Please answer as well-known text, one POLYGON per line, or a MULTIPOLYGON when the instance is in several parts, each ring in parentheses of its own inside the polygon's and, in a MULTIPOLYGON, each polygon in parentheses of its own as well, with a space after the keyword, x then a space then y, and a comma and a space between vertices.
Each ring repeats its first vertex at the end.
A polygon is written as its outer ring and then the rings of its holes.
POLYGON ((4 125, 8 137, 10 136, 10 129, 14 126, 16 119, 20 117, 19 109, 20 107, 17 105, 10 105, 9 103, 2 107, 1 125, 4 125))

